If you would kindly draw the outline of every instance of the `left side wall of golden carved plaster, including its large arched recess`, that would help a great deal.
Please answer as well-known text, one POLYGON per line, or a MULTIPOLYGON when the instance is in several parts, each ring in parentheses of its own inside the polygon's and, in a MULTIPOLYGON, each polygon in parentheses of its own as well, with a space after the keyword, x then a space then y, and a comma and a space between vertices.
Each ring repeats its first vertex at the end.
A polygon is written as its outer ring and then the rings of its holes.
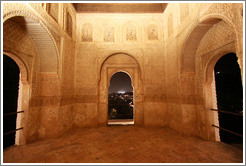
POLYGON ((23 119, 23 143, 57 137, 68 131, 72 125, 69 115, 73 105, 73 74, 70 73, 74 70, 75 10, 71 4, 59 4, 58 18, 54 20, 49 15, 48 5, 3 5, 3 52, 21 59, 28 71, 27 85, 30 91, 23 91, 26 93, 22 94, 25 97, 23 102, 27 103, 23 119), (74 28, 72 36, 67 34, 64 18, 68 12, 74 23, 70 25, 74 28), (50 40, 49 43, 45 38, 50 40), (43 47, 42 44, 49 45, 43 47), (55 51, 50 51, 52 45, 55 51), (52 56, 56 58, 50 58, 52 56), (55 64, 56 67, 50 70, 49 64, 55 64))

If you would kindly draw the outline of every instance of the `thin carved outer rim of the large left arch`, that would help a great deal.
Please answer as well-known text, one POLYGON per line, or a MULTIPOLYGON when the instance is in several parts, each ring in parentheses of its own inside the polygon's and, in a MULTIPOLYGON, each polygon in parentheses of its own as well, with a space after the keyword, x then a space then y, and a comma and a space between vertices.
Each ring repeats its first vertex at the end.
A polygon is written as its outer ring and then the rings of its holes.
MULTIPOLYGON (((37 17, 37 16, 35 16, 35 15, 31 14, 31 13, 28 13, 26 11, 20 11, 20 10, 14 10, 14 11, 11 11, 11 12, 6 13, 3 16, 3 24, 4 24, 5 21, 7 21, 7 20, 9 20, 9 19, 11 19, 13 17, 18 17, 18 16, 22 16, 24 18, 26 17, 26 18, 30 18, 30 19, 35 20, 41 26, 41 28, 43 28, 43 30, 48 34, 49 40, 51 40, 51 43, 52 43, 50 45, 50 47, 51 47, 51 49, 54 49, 55 57, 56 57, 56 63, 57 64, 56 64, 56 69, 55 69, 56 71, 55 71, 55 73, 56 73, 56 75, 60 75, 60 70, 61 69, 60 69, 60 63, 59 63, 60 62, 59 61, 60 58, 59 58, 58 46, 56 44, 56 41, 55 41, 53 35, 51 34, 51 32, 49 31, 49 29, 47 28, 47 26, 44 24, 44 22, 41 20, 41 18, 39 18, 39 17, 37 17)), ((31 36, 30 36, 30 38, 32 39, 31 36)), ((36 45, 36 43, 35 43, 35 45, 36 45)), ((37 48, 37 51, 38 51, 38 54, 39 54, 39 59, 40 59, 40 64, 41 64, 42 62, 41 62, 41 58, 40 57, 42 56, 42 53, 40 53, 40 50, 38 48, 37 48)), ((42 72, 42 71, 40 71, 40 72, 42 72)))

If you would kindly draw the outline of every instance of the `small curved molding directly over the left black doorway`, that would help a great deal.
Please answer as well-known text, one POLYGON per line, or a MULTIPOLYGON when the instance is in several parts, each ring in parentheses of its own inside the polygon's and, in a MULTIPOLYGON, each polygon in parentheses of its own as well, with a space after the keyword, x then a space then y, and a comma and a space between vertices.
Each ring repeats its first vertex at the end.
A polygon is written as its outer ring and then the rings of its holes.
POLYGON ((16 56, 15 54, 11 53, 11 52, 6 52, 3 51, 3 54, 9 56, 11 59, 13 59, 15 61, 15 63, 18 65, 19 69, 20 69, 20 73, 21 73, 21 82, 23 84, 29 84, 30 83, 30 69, 28 68, 28 65, 18 56, 16 56))

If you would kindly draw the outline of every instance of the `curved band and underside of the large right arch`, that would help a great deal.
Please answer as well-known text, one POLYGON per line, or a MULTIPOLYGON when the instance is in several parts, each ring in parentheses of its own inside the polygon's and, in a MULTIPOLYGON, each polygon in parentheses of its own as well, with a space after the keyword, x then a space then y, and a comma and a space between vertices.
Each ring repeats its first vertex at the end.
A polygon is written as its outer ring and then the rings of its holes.
POLYGON ((217 24, 220 21, 224 21, 232 29, 234 37, 235 37, 235 41, 236 41, 235 47, 238 46, 236 27, 229 18, 227 18, 223 14, 218 14, 218 13, 212 13, 212 14, 202 16, 200 19, 197 19, 191 25, 190 30, 185 36, 184 42, 181 46, 182 47, 181 53, 180 53, 180 73, 181 74, 195 73, 195 70, 196 70, 195 69, 196 68, 195 59, 196 59, 196 53, 197 53, 199 43, 202 37, 208 32, 208 30, 212 28, 213 25, 217 24), (187 64, 189 64, 192 67, 190 69, 187 68, 186 66, 187 64))

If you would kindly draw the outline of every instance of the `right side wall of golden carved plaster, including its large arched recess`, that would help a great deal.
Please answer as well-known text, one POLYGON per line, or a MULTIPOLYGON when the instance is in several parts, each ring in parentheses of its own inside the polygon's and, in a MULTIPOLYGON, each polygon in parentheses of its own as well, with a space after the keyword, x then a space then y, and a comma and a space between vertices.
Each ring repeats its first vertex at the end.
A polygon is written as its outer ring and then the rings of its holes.
MULTIPOLYGON (((228 52, 235 52, 242 64, 240 6, 168 4, 164 12, 168 112, 174 119, 170 127, 184 135, 216 138, 211 126, 217 123, 216 114, 209 111, 216 98, 212 99, 212 80, 207 85, 205 73, 210 68, 209 77, 213 77, 211 61, 217 62, 228 52)), ((242 66, 241 71, 243 76, 242 66)))

